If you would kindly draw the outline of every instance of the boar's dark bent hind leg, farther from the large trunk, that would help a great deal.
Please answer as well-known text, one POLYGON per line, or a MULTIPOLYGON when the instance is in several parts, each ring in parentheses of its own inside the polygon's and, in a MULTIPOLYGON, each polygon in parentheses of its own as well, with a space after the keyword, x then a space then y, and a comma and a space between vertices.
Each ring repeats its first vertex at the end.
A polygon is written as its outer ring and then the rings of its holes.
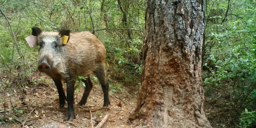
POLYGON ((92 84, 92 81, 91 81, 90 77, 87 77, 86 80, 83 79, 82 82, 85 83, 86 87, 84 88, 83 97, 80 100, 80 102, 78 103, 80 106, 86 104, 86 101, 87 101, 87 98, 89 96, 89 93, 90 93, 90 91, 91 91, 91 89, 93 87, 93 84, 92 84))

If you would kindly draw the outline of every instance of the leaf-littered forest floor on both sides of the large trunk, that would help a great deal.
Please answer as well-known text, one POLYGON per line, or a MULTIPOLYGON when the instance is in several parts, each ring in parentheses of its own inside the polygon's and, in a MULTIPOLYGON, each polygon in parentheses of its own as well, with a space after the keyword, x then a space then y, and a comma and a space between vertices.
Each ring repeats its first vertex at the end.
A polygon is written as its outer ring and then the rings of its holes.
MULTIPOLYGON (((37 128, 43 125, 55 123, 59 128, 91 128, 97 126, 108 114, 109 118, 102 128, 130 128, 129 115, 136 107, 139 88, 121 86, 119 89, 110 87, 111 106, 108 109, 100 109, 103 106, 103 92, 99 82, 92 79, 94 87, 90 92, 86 105, 77 107, 83 93, 74 96, 76 119, 65 121, 67 103, 59 109, 58 92, 51 78, 42 73, 31 74, 30 79, 19 80, 12 74, 0 74, 0 82, 9 84, 9 88, 0 90, 0 128, 37 128), (11 78, 13 77, 13 78, 11 78), (7 80, 11 78, 11 80, 7 80), (20 83, 25 81, 25 83, 20 83), (23 85, 24 90, 17 86, 23 85), (34 83, 34 84, 33 84, 34 83), (24 96, 22 96, 24 95, 24 96), (11 101, 11 102, 10 102, 11 101), (24 106, 21 105, 22 102, 24 106), (5 107, 5 119, 4 107, 5 107), (90 110, 88 110, 88 107, 90 110), (14 108, 14 110, 13 110, 14 108), (100 109, 100 110, 97 110, 100 109), (96 110, 96 111, 95 111, 96 110)), ((119 84, 109 80, 110 86, 119 84)), ((1 83, 0 83, 1 85, 1 83)), ((66 86, 64 85, 64 90, 66 86)), ((235 113, 227 106, 227 97, 223 92, 212 92, 205 96, 204 110, 213 128, 236 128, 239 122, 234 122, 235 113), (212 97, 218 97, 216 99, 212 97)))

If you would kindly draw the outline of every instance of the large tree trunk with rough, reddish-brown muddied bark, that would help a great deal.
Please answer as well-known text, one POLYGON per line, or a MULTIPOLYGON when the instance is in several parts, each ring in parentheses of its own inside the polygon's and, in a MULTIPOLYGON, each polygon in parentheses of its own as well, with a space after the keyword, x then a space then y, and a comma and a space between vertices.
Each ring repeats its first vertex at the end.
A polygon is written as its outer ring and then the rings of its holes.
POLYGON ((211 128, 203 110, 204 0, 148 0, 138 127, 211 128))

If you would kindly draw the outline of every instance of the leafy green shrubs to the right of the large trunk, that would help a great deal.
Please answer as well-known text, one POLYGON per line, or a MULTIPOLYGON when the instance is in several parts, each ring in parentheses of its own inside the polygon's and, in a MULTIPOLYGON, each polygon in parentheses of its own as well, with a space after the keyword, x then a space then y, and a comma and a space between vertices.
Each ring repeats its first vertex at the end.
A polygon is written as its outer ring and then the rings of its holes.
POLYGON ((234 122, 239 122, 241 116, 241 127, 248 126, 249 119, 242 110, 256 109, 255 4, 255 1, 235 0, 228 5, 228 1, 207 0, 205 13, 205 95, 228 98, 225 104, 233 109, 234 122), (215 92, 222 95, 212 95, 215 92))

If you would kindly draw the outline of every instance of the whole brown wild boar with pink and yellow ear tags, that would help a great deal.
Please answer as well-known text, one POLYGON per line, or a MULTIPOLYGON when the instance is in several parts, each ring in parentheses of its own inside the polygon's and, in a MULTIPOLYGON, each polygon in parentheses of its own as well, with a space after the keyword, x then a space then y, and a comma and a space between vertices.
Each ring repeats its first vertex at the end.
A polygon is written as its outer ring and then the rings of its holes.
POLYGON ((94 74, 101 84, 104 94, 103 107, 110 105, 105 68, 106 49, 95 35, 87 31, 70 33, 67 29, 60 32, 43 32, 38 27, 32 27, 32 34, 26 41, 31 47, 39 46, 38 70, 53 79, 59 93, 59 108, 63 108, 65 100, 67 101, 66 120, 75 119, 73 103, 76 76, 87 77, 82 80, 86 87, 79 105, 86 103, 93 87, 91 74, 94 74), (62 88, 62 80, 67 84, 67 98, 62 88))

